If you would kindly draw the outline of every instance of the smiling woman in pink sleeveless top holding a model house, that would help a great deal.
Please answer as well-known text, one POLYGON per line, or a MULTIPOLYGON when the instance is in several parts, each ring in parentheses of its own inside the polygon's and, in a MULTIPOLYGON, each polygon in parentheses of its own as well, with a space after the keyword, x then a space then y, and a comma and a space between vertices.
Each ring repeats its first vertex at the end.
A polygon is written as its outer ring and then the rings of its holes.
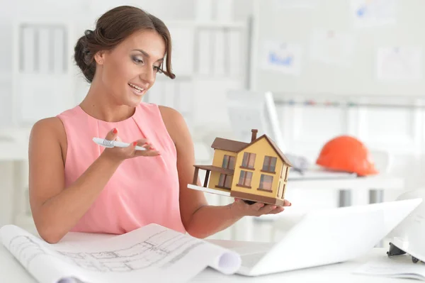
POLYGON ((243 216, 283 211, 238 199, 208 206, 202 192, 187 189, 194 152, 183 117, 141 102, 157 73, 175 77, 169 30, 158 18, 132 6, 112 9, 79 38, 74 59, 89 92, 35 123, 30 135, 30 206, 48 243, 69 231, 122 234, 149 223, 205 238, 243 216), (94 137, 132 144, 102 148, 94 137))

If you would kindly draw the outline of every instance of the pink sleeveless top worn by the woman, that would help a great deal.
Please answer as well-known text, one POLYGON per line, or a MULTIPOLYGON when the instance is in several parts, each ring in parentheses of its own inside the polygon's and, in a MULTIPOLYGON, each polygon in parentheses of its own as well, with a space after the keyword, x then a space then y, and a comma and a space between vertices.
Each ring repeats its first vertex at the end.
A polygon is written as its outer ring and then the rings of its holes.
POLYGON ((74 232, 122 234, 157 223, 186 233, 179 208, 179 177, 173 140, 155 104, 142 102, 116 123, 98 120, 76 106, 58 116, 67 133, 65 184, 72 184, 104 150, 92 140, 118 129, 121 140, 147 138, 161 155, 124 160, 74 232))

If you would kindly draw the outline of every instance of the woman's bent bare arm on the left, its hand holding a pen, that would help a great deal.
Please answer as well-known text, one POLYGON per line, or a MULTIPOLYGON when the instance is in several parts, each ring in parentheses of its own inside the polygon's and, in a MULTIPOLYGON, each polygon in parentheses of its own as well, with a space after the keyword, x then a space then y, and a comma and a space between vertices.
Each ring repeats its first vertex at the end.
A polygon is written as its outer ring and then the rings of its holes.
MULTIPOLYGON (((118 133, 111 129, 106 138, 114 140, 116 135, 118 133)), ((65 188, 61 143, 65 145, 66 140, 59 118, 38 121, 30 134, 30 206, 38 233, 48 243, 61 240, 89 210, 121 161, 135 156, 134 145, 103 150, 101 156, 65 188)), ((155 155, 151 150, 143 152, 155 155)))

